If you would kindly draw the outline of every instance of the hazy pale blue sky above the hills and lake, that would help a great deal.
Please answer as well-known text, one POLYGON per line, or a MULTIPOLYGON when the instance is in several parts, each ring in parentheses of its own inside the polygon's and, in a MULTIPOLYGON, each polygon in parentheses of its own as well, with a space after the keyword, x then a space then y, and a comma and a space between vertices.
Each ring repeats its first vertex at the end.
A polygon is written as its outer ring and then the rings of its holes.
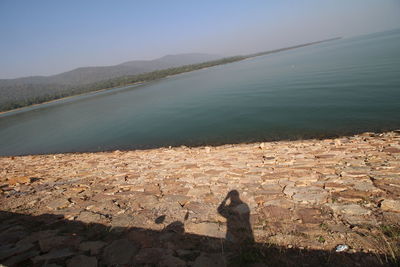
POLYGON ((0 78, 394 28, 399 0, 0 0, 0 78))

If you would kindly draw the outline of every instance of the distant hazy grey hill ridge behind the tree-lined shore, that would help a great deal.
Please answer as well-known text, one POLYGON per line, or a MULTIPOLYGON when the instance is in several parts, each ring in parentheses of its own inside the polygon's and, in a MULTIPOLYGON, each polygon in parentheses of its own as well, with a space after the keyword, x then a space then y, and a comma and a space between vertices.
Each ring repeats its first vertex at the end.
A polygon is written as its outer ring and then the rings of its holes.
POLYGON ((179 67, 222 58, 201 53, 167 55, 154 60, 134 60, 114 66, 82 67, 52 76, 32 76, 17 79, 0 79, 0 88, 21 85, 82 85, 121 76, 136 75, 155 70, 179 67))

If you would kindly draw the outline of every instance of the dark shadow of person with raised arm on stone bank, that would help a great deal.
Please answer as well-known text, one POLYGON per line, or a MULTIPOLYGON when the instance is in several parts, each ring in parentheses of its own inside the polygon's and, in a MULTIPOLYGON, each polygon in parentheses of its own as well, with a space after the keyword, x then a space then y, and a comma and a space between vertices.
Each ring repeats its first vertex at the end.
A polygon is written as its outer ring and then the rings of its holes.
POLYGON ((250 225, 250 208, 244 203, 237 190, 230 191, 218 206, 218 213, 227 222, 226 240, 242 246, 254 243, 253 230, 250 225), (227 205, 227 201, 229 204, 227 205))

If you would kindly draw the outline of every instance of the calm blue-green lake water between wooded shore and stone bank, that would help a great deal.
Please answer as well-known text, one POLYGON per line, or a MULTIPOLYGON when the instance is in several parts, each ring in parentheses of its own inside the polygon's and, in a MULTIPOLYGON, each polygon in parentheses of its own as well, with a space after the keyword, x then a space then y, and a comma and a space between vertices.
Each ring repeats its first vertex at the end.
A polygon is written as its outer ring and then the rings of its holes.
POLYGON ((400 128, 400 30, 0 116, 0 155, 297 139, 400 128))

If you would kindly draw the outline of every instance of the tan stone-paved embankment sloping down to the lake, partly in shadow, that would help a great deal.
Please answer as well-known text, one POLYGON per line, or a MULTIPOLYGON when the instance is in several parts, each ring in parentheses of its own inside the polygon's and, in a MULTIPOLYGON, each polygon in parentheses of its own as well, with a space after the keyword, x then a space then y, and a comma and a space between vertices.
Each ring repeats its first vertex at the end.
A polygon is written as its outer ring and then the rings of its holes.
POLYGON ((0 166, 4 266, 399 264, 399 131, 0 166))

